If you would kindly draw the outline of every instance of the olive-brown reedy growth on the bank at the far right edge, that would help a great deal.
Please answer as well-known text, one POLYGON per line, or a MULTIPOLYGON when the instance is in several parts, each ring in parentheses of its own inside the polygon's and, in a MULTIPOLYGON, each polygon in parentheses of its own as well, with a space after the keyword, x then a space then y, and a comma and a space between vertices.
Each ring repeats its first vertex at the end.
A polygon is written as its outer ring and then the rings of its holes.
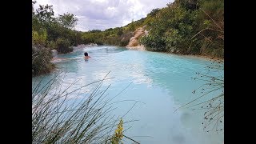
POLYGON ((198 42, 201 53, 218 58, 224 57, 224 1, 199 1, 198 42))

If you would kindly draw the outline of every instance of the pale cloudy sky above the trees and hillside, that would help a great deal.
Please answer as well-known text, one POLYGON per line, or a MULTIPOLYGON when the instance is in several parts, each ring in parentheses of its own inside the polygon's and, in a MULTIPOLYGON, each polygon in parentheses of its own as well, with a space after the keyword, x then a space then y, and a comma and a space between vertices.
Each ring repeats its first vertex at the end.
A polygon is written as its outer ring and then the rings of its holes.
POLYGON ((78 18, 75 30, 106 30, 126 26, 132 20, 145 18, 156 8, 166 7, 174 0, 36 0, 38 5, 53 5, 54 16, 74 14, 78 18))

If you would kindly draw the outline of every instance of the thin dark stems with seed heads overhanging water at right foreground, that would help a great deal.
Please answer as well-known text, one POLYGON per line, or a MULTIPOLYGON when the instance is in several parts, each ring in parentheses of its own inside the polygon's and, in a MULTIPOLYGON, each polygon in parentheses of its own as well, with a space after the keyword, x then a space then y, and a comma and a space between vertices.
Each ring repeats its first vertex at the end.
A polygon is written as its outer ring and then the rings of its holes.
POLYGON ((192 110, 204 110, 203 130, 223 131, 224 130, 224 76, 222 74, 214 74, 224 70, 222 60, 213 60, 210 66, 206 66, 208 72, 199 73, 194 80, 205 82, 197 90, 192 91, 198 95, 192 101, 187 102, 178 109, 185 107, 192 110))

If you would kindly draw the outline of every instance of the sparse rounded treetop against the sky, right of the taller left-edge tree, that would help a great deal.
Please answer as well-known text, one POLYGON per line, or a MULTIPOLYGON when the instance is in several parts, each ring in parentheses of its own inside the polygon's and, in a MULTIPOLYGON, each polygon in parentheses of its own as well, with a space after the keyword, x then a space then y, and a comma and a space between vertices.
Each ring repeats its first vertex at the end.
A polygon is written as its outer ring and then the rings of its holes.
POLYGON ((58 22, 61 26, 72 29, 78 22, 78 18, 74 17, 74 14, 63 14, 58 16, 58 22))

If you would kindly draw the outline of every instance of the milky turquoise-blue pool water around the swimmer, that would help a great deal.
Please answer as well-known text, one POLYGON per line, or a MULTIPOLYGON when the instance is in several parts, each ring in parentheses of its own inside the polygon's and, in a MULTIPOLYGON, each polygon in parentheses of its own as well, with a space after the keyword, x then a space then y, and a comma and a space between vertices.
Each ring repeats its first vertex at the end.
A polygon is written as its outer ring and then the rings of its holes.
MULTIPOLYGON (((218 144, 223 143, 224 133, 203 130, 203 110, 179 106, 196 98, 192 91, 205 82, 191 77, 196 72, 207 73, 210 61, 203 58, 163 54, 149 51, 127 50, 115 46, 85 47, 71 54, 58 54, 64 58, 55 62, 58 70, 65 70, 63 80, 66 85, 79 79, 75 86, 95 82, 107 75, 111 84, 107 90, 110 96, 118 94, 130 84, 116 100, 116 115, 124 115, 132 106, 124 121, 138 120, 124 124, 125 135, 134 140, 151 143, 173 144, 218 144), (83 52, 87 51, 90 59, 85 61, 83 52), (113 78, 112 78, 113 77, 113 78), (134 105, 134 100, 139 101, 134 105), (175 112, 174 112, 175 111, 175 112)), ((217 74, 223 74, 223 70, 217 74)), ((54 73, 43 75, 47 80, 54 73)), ((38 77, 41 78, 42 76, 38 77)), ((35 79, 35 78, 34 78, 35 79)), ((104 87, 103 86, 103 87, 104 87)), ((84 92, 93 86, 86 86, 84 92)), ((125 143, 132 143, 124 138, 125 143)))

